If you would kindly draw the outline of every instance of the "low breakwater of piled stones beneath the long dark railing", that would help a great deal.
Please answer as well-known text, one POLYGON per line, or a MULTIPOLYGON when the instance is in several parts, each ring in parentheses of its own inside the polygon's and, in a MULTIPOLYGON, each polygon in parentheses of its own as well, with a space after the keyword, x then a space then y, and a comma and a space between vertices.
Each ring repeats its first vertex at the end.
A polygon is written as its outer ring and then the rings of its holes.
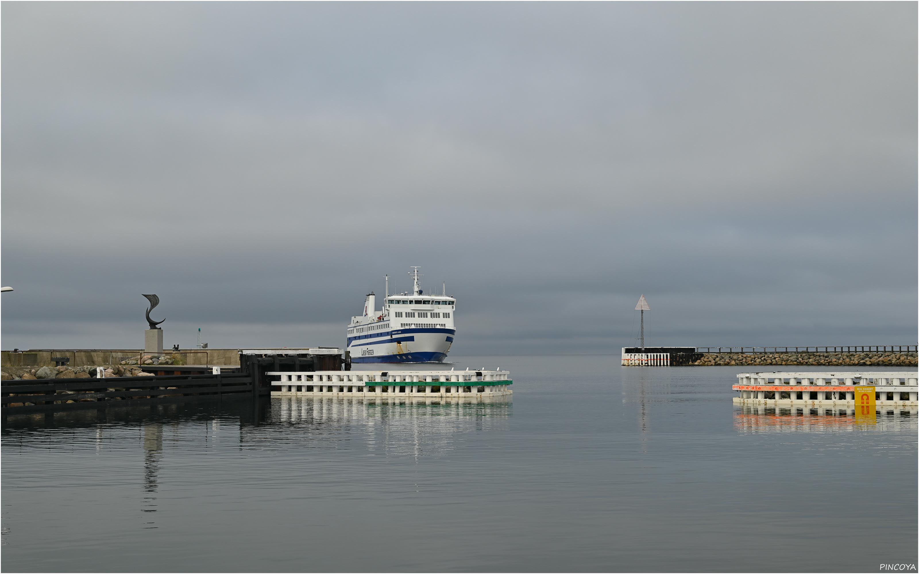
POLYGON ((916 366, 913 353, 703 353, 698 366, 916 366))

